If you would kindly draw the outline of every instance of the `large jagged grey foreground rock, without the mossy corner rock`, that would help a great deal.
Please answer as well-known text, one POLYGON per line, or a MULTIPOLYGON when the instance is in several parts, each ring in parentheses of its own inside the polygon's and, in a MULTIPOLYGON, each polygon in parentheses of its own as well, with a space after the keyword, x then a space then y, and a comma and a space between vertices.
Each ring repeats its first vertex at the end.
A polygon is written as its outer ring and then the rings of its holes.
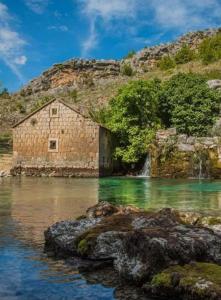
POLYGON ((193 262, 221 265, 220 223, 220 218, 172 209, 144 212, 101 202, 79 220, 49 227, 45 250, 81 258, 83 269, 112 265, 121 279, 158 294, 155 276, 168 268, 193 262))

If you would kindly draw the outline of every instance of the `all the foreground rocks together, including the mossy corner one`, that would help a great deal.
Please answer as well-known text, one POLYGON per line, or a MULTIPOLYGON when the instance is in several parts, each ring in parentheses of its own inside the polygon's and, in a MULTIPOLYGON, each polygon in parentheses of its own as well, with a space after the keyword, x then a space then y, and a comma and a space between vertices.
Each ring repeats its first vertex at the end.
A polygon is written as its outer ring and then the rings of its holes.
POLYGON ((49 227, 45 251, 81 272, 108 268, 117 299, 221 299, 221 217, 101 202, 49 227))

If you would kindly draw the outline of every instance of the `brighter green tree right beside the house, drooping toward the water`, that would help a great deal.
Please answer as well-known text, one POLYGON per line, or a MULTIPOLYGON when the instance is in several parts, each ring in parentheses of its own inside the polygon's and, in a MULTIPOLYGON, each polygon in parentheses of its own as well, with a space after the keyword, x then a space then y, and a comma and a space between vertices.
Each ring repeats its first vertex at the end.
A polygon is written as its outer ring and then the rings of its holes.
POLYGON ((115 158, 136 163, 146 155, 160 125, 157 115, 159 90, 158 80, 132 81, 110 101, 105 119, 118 141, 115 158))

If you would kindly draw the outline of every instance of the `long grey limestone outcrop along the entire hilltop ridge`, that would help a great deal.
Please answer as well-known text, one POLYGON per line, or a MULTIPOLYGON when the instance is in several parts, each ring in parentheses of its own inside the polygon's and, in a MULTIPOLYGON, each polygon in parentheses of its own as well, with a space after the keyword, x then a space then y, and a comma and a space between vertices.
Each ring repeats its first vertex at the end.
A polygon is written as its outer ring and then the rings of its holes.
POLYGON ((190 45, 196 48, 206 37, 212 36, 221 29, 209 29, 188 33, 177 41, 159 46, 144 48, 130 59, 123 60, 82 60, 72 59, 62 64, 55 64, 42 73, 38 78, 27 84, 20 93, 30 96, 41 92, 64 92, 70 89, 84 89, 93 86, 105 85, 107 82, 128 80, 121 72, 125 63, 131 64, 134 71, 142 74, 150 71, 157 61, 167 54, 174 55, 183 46, 190 45))

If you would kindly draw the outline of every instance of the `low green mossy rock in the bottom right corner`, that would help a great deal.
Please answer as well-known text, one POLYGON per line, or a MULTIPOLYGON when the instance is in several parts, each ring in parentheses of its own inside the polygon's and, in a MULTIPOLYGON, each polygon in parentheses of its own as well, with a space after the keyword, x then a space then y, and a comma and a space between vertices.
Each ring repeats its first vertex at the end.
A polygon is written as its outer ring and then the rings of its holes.
POLYGON ((151 288, 160 295, 185 299, 221 299, 221 266, 210 263, 173 266, 155 275, 151 288))

